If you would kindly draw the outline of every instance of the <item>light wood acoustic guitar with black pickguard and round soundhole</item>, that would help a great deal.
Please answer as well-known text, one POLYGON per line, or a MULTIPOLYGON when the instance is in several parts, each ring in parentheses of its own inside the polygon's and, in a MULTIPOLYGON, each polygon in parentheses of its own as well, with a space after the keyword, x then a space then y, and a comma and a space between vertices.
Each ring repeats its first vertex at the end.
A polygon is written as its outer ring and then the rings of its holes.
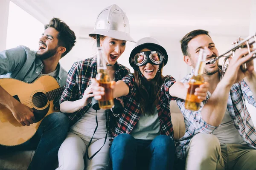
POLYGON ((17 79, 0 79, 0 85, 19 102, 34 110, 35 123, 22 126, 12 112, 0 104, 0 144, 14 146, 31 139, 36 133, 42 119, 56 112, 53 99, 61 96, 64 87, 58 85, 55 78, 44 75, 33 83, 17 79))

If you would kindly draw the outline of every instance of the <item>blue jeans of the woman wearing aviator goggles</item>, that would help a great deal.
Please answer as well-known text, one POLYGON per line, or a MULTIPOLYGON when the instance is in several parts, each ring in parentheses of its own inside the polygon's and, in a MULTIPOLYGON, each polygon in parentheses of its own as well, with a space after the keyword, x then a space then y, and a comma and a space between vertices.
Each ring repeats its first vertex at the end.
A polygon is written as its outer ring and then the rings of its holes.
POLYGON ((123 133, 113 140, 110 158, 113 170, 173 170, 175 144, 166 135, 141 140, 123 133))

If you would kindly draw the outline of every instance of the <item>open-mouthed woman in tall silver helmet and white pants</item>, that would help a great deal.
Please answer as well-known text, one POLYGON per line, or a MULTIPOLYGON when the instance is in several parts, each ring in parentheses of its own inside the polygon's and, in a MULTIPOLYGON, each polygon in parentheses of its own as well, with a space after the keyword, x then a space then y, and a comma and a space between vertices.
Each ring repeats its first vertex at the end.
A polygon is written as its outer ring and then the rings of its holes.
MULTIPOLYGON (((89 36, 97 40, 97 46, 102 47, 108 62, 107 72, 113 80, 120 80, 130 73, 128 68, 116 62, 125 51, 126 41, 134 42, 129 35, 128 18, 121 8, 112 5, 103 9, 89 36)), ((59 170, 84 170, 84 162, 87 170, 108 167, 111 138, 108 125, 113 120, 113 115, 109 110, 101 109, 96 116, 96 111, 91 107, 93 94, 90 80, 96 77, 96 71, 94 56, 75 62, 68 73, 60 110, 70 113, 67 115, 71 127, 58 152, 59 170)))

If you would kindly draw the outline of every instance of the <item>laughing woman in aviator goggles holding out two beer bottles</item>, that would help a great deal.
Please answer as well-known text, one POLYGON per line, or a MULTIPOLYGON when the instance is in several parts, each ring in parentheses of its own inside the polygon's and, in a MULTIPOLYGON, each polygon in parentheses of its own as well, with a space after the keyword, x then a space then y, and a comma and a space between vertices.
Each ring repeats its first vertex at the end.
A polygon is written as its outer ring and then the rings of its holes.
MULTIPOLYGON (((128 74, 113 87, 113 96, 124 96, 124 112, 115 127, 110 158, 113 170, 172 170, 175 142, 170 114, 170 100, 185 99, 187 89, 171 76, 162 75, 168 55, 151 37, 139 40, 131 51, 128 74)), ((101 99, 104 88, 92 80, 95 99, 101 99)), ((197 89, 199 99, 205 99, 206 85, 197 89)))

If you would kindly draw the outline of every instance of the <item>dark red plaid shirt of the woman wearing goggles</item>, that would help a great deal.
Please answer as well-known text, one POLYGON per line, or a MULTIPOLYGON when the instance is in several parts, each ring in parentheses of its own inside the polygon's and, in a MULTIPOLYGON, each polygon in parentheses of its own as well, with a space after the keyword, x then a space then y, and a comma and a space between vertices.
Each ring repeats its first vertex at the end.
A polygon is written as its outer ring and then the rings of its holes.
MULTIPOLYGON (((129 94, 124 96, 124 111, 119 117, 117 126, 113 136, 116 137, 121 133, 131 133, 131 130, 135 127, 136 123, 140 119, 140 103, 136 100, 136 86, 134 85, 134 74, 128 74, 122 81, 129 86, 129 94)), ((159 103, 157 104, 157 112, 160 122, 160 134, 170 136, 173 139, 173 127, 170 113, 170 101, 175 100, 176 97, 172 97, 169 94, 169 88, 175 83, 175 79, 171 76, 164 77, 163 85, 161 86, 161 92, 159 95, 159 103)), ((113 138, 114 138, 113 137, 113 138)))

